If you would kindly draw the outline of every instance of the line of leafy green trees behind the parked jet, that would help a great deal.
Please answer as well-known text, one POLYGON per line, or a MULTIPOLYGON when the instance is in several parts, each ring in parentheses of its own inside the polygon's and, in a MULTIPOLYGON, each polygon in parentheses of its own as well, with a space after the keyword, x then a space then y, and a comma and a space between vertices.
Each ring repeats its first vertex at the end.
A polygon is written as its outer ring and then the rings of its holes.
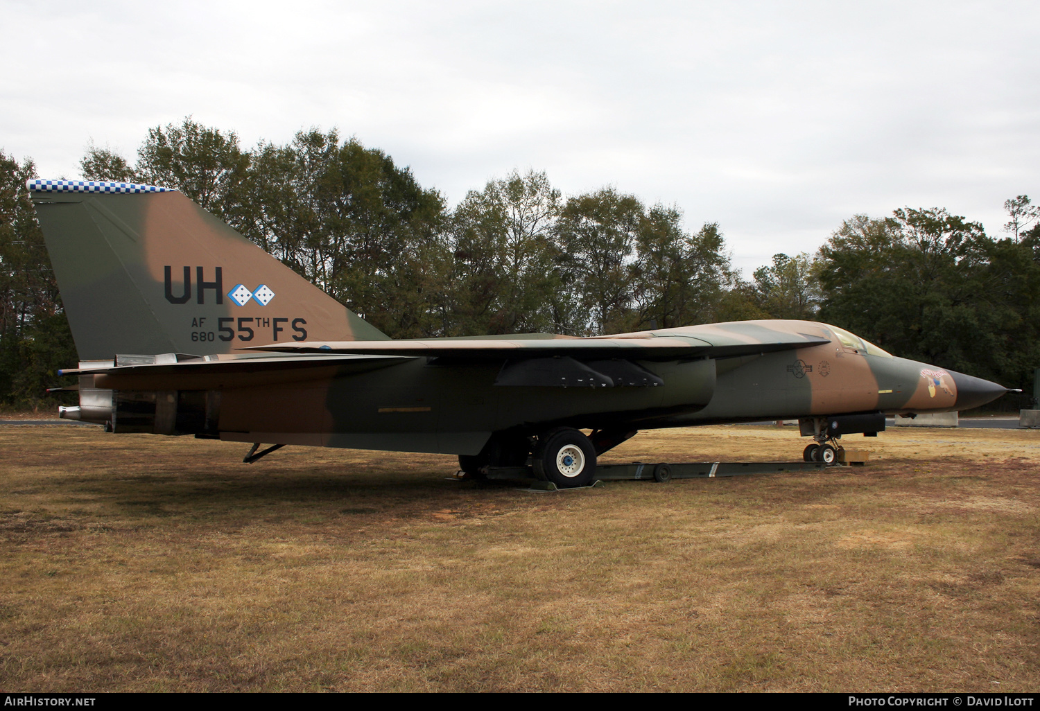
MULTIPOLYGON (((567 195, 514 172, 449 209, 384 152, 337 131, 243 149, 190 117, 136 160, 90 147, 85 180, 182 191, 394 338, 577 336, 755 318, 813 319, 895 354, 1009 387, 1040 367, 1040 226, 1019 195, 1006 237, 943 209, 856 215, 815 255, 746 281, 717 222, 604 186, 567 195)), ((0 153, 0 401, 35 404, 76 362, 25 181, 0 153)))

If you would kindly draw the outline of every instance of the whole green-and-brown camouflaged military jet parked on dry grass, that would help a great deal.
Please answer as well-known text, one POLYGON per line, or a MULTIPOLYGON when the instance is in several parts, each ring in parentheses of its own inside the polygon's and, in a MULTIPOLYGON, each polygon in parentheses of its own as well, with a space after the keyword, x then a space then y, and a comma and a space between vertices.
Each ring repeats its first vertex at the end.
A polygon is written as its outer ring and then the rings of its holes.
POLYGON ((391 340, 176 190, 29 189, 80 357, 63 371, 79 405, 60 416, 250 443, 246 460, 284 445, 444 452, 470 476, 529 460, 576 486, 640 429, 798 419, 805 458, 829 463, 885 414, 1007 392, 811 321, 391 340))

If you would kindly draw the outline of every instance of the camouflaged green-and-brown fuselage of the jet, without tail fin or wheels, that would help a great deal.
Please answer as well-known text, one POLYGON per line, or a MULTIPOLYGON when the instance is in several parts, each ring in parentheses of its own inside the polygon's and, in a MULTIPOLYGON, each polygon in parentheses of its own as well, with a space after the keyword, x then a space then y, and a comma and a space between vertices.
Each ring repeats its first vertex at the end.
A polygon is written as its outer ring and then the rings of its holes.
POLYGON ((275 371, 188 373, 183 363, 180 372, 126 367, 87 377, 119 392, 218 393, 208 433, 225 440, 463 454, 475 454, 492 432, 505 430, 649 429, 965 406, 948 371, 846 346, 824 324, 747 321, 654 333, 732 342, 764 328, 833 340, 730 358, 635 360, 658 376, 658 386, 510 387, 496 384, 502 360, 379 356, 329 365, 322 359, 336 357, 318 356, 306 367, 287 357, 275 371))

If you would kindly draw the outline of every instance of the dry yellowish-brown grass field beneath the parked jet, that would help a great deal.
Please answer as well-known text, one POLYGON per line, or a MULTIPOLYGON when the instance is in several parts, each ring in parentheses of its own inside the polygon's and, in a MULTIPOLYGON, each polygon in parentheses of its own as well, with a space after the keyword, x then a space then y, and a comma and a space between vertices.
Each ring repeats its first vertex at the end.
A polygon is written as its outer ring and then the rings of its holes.
POLYGON ((847 444, 881 458, 532 494, 449 456, 0 426, 0 688, 1040 689, 1040 431, 847 444))

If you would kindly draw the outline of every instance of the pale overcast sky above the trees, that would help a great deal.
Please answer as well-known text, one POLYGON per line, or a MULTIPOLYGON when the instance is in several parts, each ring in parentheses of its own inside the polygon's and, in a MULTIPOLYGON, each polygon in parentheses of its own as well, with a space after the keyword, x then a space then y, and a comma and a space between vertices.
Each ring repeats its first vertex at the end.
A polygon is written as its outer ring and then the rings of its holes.
POLYGON ((338 128, 449 205, 514 168, 718 221, 736 266, 855 214, 1005 236, 1040 199, 1036 2, 0 0, 0 150, 79 178, 192 115, 244 148, 338 128))

